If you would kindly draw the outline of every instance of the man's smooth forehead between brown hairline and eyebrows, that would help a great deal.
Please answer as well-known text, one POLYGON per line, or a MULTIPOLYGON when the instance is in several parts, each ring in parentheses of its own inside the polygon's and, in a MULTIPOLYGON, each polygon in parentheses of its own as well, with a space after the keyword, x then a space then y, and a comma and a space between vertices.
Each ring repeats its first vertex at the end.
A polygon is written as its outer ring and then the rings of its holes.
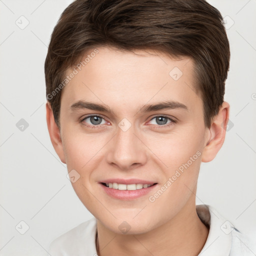
MULTIPOLYGON (((174 59, 150 49, 92 48, 74 66, 77 73, 65 85, 61 101, 69 107, 78 100, 90 99, 117 108, 127 104, 137 109, 149 101, 173 100, 191 108, 196 101, 197 106, 201 105, 195 92, 193 65, 189 57, 174 59)), ((66 75, 73 70, 69 68, 66 75)))

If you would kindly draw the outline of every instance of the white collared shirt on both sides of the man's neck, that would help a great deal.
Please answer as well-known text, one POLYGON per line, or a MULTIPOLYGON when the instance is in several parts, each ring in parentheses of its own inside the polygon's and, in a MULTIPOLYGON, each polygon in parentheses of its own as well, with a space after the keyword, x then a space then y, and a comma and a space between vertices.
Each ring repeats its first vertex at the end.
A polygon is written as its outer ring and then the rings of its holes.
MULTIPOLYGON (((252 256, 256 251, 248 237, 209 205, 196 205, 201 221, 209 226, 207 240, 198 256, 252 256)), ((54 239, 51 256, 97 256, 96 219, 92 218, 54 239)))

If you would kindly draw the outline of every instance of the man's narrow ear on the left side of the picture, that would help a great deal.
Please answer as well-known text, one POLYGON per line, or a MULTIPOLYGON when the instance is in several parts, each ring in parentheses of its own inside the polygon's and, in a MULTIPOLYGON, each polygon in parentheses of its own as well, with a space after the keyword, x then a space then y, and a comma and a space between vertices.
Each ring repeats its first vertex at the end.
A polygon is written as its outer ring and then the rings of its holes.
POLYGON ((63 163, 66 163, 64 151, 63 151, 63 145, 60 137, 60 130, 54 120, 54 116, 53 116, 49 101, 46 102, 46 121, 47 121, 47 127, 50 135, 50 141, 60 160, 63 163))

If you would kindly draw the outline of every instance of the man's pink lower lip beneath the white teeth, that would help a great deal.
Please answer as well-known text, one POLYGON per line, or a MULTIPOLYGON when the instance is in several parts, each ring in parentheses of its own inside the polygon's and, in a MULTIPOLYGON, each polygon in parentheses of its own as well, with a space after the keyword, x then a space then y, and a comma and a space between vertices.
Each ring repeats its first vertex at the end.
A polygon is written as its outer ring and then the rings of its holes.
POLYGON ((99 185, 104 189, 104 191, 108 195, 120 200, 137 199, 143 195, 146 195, 155 187, 155 185, 152 185, 146 188, 140 188, 136 190, 119 190, 119 189, 109 188, 101 183, 99 183, 99 185))

